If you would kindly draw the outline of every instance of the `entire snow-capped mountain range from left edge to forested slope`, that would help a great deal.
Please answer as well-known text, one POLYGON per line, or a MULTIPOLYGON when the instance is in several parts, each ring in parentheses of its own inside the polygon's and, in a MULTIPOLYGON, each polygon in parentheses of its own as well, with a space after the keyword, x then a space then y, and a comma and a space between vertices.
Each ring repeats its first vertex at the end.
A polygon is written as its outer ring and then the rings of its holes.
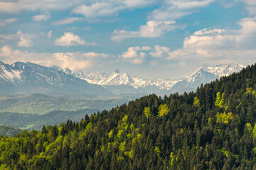
POLYGON ((31 62, 5 64, 0 62, 0 95, 14 94, 85 94, 113 96, 127 94, 168 94, 175 91, 193 91, 234 72, 242 64, 203 65, 196 72, 181 79, 147 80, 134 77, 119 69, 112 73, 71 71, 68 68, 43 67, 31 62))

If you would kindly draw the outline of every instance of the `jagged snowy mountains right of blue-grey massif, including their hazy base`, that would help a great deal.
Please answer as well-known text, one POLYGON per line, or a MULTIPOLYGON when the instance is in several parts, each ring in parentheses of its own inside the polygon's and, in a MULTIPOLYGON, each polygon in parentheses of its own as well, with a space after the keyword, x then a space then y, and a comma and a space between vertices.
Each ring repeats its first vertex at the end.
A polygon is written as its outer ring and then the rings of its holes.
MULTIPOLYGON (((57 67, 53 67, 57 68, 57 67)), ((181 79, 156 79, 146 80, 133 77, 119 69, 111 74, 86 73, 82 71, 72 72, 70 69, 60 69, 67 74, 84 79, 91 84, 105 86, 114 94, 161 94, 169 91, 195 90, 201 84, 209 83, 223 76, 240 72, 245 68, 242 64, 220 64, 216 66, 204 65, 196 72, 181 79)))

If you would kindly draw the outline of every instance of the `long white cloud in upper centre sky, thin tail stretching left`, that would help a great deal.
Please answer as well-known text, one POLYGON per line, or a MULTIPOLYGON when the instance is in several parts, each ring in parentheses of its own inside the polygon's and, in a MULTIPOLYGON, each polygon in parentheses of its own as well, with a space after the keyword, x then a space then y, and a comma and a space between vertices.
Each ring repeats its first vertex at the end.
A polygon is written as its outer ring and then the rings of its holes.
POLYGON ((140 26, 137 31, 114 30, 110 39, 120 42, 127 38, 156 38, 171 30, 184 28, 175 23, 175 21, 147 21, 146 25, 140 26))

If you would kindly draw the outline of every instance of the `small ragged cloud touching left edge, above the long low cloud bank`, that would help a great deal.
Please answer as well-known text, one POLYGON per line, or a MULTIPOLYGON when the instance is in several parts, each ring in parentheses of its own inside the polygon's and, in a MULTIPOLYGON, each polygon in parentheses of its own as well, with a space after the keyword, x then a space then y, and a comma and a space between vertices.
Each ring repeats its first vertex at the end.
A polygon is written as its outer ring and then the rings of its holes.
POLYGON ((32 39, 36 38, 36 35, 31 35, 28 33, 22 33, 21 30, 18 30, 16 34, 0 34, 0 38, 4 40, 18 40, 18 47, 33 47, 32 39))

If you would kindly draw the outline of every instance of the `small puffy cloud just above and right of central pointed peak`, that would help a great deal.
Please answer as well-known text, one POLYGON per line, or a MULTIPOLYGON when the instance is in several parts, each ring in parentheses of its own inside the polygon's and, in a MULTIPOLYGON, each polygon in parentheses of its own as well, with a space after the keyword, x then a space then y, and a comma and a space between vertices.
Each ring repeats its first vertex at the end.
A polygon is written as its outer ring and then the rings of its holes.
POLYGON ((139 51, 149 51, 151 47, 142 46, 142 47, 129 47, 127 52, 122 53, 122 58, 124 62, 132 62, 133 64, 142 64, 144 62, 144 58, 146 57, 145 52, 139 51))

